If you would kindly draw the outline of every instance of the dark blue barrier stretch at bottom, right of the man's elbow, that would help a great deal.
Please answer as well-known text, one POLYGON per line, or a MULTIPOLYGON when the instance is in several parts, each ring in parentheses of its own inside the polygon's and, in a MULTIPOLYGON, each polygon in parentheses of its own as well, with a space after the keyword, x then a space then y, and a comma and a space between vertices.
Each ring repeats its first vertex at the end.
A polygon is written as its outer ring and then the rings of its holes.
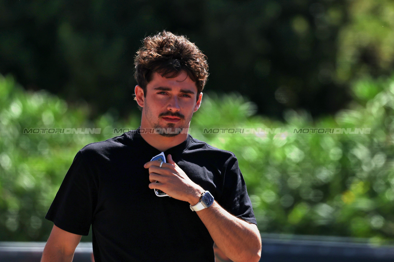
POLYGON ((376 246, 367 239, 262 234, 264 262, 392 262, 394 246, 376 246))

